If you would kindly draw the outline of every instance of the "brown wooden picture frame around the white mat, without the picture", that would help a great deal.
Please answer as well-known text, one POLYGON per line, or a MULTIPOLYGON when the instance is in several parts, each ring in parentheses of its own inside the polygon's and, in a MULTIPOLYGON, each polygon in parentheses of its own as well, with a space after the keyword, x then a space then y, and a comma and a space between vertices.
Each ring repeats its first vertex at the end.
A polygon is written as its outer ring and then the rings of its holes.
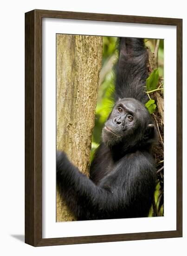
POLYGON ((25 242, 32 246, 101 243, 182 236, 182 20, 101 13, 32 10, 25 14, 25 242), (42 19, 96 20, 176 26, 176 230, 42 238, 42 19))

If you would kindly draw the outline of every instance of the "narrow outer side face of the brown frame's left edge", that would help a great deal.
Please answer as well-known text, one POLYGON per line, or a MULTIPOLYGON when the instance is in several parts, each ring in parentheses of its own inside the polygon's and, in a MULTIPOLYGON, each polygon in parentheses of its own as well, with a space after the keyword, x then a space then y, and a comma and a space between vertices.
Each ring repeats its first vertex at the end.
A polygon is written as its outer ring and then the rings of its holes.
POLYGON ((25 17, 25 242, 34 244, 34 11, 25 17))

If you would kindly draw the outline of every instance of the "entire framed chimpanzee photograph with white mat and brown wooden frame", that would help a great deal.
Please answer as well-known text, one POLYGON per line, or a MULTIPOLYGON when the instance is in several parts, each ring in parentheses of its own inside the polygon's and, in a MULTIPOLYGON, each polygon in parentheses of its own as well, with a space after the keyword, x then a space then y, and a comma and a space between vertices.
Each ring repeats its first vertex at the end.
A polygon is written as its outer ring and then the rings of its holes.
POLYGON ((25 242, 182 236, 182 20, 25 16, 25 242))

